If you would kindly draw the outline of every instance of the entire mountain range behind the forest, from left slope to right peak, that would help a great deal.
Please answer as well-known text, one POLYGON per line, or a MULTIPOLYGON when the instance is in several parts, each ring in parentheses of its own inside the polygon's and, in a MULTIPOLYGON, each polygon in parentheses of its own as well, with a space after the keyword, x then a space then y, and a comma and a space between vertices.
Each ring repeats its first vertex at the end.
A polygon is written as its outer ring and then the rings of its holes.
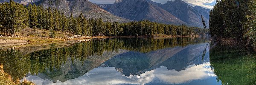
MULTIPOLYGON (((9 2, 10 0, 3 0, 9 2)), ((86 18, 102 18, 103 21, 129 22, 150 20, 152 22, 202 27, 201 15, 207 26, 209 9, 201 6, 190 6, 183 0, 168 1, 165 4, 152 0, 116 0, 113 4, 95 4, 88 0, 14 0, 17 3, 34 3, 44 8, 57 8, 66 16, 73 13, 77 17, 80 12, 86 18)))

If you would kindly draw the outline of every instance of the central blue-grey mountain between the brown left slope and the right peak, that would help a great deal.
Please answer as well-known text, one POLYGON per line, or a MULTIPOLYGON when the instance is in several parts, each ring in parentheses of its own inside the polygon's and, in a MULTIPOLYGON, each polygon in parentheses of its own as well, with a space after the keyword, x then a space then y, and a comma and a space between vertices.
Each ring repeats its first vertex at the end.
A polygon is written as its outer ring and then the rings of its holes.
POLYGON ((186 24, 163 8, 145 0, 116 0, 107 11, 116 16, 136 21, 151 20, 166 24, 186 24))

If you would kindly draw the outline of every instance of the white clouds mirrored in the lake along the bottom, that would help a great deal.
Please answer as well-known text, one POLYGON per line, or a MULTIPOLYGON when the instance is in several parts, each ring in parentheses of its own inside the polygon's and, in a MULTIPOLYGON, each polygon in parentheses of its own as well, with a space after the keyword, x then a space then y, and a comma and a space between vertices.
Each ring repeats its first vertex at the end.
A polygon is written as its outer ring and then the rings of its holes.
POLYGON ((140 76, 131 75, 129 77, 120 74, 114 67, 100 67, 94 68, 82 77, 70 79, 66 82, 57 81, 53 83, 51 80, 44 80, 37 76, 28 76, 26 79, 35 82, 37 85, 144 85, 152 81, 158 83, 165 82, 166 84, 179 84, 192 80, 215 77, 209 65, 209 62, 201 65, 189 65, 183 71, 168 70, 166 67, 162 66, 140 74, 140 76), (160 79, 160 81, 154 81, 154 79, 160 79))

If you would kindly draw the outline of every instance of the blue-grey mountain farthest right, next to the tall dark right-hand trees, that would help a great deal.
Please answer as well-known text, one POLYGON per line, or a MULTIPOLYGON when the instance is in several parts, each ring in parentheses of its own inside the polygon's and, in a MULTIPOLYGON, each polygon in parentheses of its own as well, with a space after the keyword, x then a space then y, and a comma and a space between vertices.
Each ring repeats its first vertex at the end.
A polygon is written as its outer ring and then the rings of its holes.
POLYGON ((202 27, 201 15, 204 16, 207 25, 209 24, 209 9, 199 6, 193 7, 182 0, 168 1, 161 7, 189 26, 202 27))

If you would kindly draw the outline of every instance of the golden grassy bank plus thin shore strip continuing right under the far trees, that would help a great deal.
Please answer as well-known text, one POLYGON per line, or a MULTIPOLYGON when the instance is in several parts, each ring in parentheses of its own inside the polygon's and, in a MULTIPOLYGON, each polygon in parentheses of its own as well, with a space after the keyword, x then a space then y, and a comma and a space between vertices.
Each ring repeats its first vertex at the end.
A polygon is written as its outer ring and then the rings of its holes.
MULTIPOLYGON (((84 40, 88 37, 74 37, 76 36, 68 31, 54 31, 55 38, 50 38, 49 30, 39 30, 32 28, 22 29, 16 37, 0 37, 0 47, 11 47, 11 46, 34 46, 52 44, 55 42, 64 42, 68 40, 84 40)), ((148 37, 148 36, 121 36, 121 37, 148 37)), ((173 36, 166 34, 154 34, 152 37, 200 37, 200 36, 173 36)), ((96 36, 90 38, 109 38, 107 36, 96 36)))

